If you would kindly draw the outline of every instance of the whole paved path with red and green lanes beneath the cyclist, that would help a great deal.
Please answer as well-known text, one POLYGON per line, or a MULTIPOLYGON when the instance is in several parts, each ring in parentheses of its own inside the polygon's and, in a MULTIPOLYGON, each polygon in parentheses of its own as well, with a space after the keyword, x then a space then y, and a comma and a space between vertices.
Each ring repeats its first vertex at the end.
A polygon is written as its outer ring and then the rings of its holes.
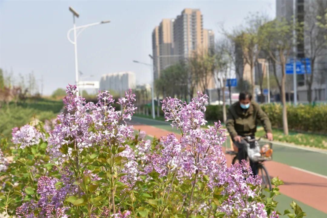
MULTIPOLYGON (((143 117, 133 117, 132 121, 141 124, 135 125, 135 129, 144 130, 151 136, 179 133, 163 121, 143 117)), ((307 217, 327 218, 327 154, 275 144, 273 148, 274 161, 266 166, 272 177, 279 176, 285 183, 281 186, 284 195, 279 196, 281 202, 278 209, 284 211, 289 208, 287 204, 295 199, 307 212, 307 217)))

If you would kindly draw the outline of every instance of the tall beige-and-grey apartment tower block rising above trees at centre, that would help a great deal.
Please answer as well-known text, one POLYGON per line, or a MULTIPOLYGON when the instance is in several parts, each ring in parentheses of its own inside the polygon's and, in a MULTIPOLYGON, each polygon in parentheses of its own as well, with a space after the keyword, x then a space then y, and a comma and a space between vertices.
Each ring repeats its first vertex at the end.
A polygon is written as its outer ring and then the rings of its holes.
POLYGON ((163 19, 152 31, 154 78, 160 76, 161 70, 189 58, 193 52, 208 51, 214 46, 214 38, 212 30, 203 29, 199 9, 185 8, 176 19, 163 19))

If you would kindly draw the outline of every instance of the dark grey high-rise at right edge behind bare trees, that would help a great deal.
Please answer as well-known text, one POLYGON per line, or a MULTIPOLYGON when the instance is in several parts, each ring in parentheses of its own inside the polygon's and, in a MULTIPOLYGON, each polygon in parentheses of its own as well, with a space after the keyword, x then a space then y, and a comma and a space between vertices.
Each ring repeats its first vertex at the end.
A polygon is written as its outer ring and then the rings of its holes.
MULTIPOLYGON (((324 0, 296 0, 295 1, 295 17, 298 22, 304 23, 305 28, 311 28, 312 24, 316 23, 317 15, 324 14, 324 10, 327 8, 327 1, 324 0)), ((293 19, 293 1, 288 0, 277 0, 276 1, 276 17, 277 19, 285 19, 286 21, 292 22, 293 19)), ((315 51, 317 44, 319 43, 319 34, 317 27, 313 28, 311 31, 306 31, 306 29, 302 29, 303 32, 297 32, 298 35, 303 35, 304 37, 300 37, 297 39, 296 46, 296 56, 299 60, 301 58, 310 58, 312 56, 312 51, 315 51), (310 33, 311 32, 311 33, 310 33), (312 39, 314 36, 314 40, 312 39), (311 42, 313 42, 313 46, 311 48, 311 42)), ((321 35, 321 34, 320 34, 321 35)), ((321 36, 320 36, 321 37, 321 36)), ((327 48, 320 47, 320 54, 315 58, 315 72, 314 79, 312 84, 312 99, 316 99, 317 101, 326 101, 327 100, 327 48)), ((292 77, 293 75, 287 75, 287 77, 292 77)), ((298 99, 299 101, 307 101, 307 77, 310 74, 301 74, 297 75, 297 91, 298 91, 298 99)), ((292 81, 291 78, 287 79, 287 81, 292 81)), ((292 91, 294 89, 293 83, 290 82, 287 84, 292 91)))

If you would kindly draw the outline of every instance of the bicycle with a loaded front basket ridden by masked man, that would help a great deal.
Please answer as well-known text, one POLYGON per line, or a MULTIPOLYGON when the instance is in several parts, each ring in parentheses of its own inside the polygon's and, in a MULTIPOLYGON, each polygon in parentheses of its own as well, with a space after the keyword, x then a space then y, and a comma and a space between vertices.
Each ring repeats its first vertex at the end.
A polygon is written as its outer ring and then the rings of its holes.
MULTIPOLYGON (((248 144, 249 144, 248 148, 250 148, 251 143, 254 143, 255 146, 259 146, 258 142, 260 141, 261 137, 259 139, 255 139, 255 138, 251 139, 250 137, 242 137, 242 139, 245 139, 248 142, 248 144)), ((233 146, 233 144, 232 144, 232 146, 233 146)), ((265 146, 263 146, 263 147, 265 147, 265 146)), ((265 161, 272 160, 272 149, 271 149, 272 145, 271 145, 271 143, 270 143, 269 147, 266 146, 266 148, 268 148, 267 149, 268 152, 267 151, 262 152, 263 150, 261 149, 261 152, 260 152, 261 156, 257 156, 255 161, 258 163, 258 175, 262 178, 261 186, 263 188, 269 188, 269 190, 271 190, 272 186, 271 186, 270 176, 269 176, 267 168, 264 165, 265 161)), ((234 157, 232 159, 232 164, 235 164, 238 161, 237 153, 238 152, 235 151, 235 149, 226 150, 226 154, 234 155, 234 157)))

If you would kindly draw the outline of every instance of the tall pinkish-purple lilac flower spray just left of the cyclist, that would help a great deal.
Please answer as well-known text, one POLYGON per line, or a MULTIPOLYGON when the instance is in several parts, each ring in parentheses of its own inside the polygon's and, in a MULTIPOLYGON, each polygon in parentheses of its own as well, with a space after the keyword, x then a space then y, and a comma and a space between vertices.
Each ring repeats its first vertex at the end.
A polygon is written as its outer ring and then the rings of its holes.
POLYGON ((196 171, 212 174, 226 167, 226 159, 221 150, 226 140, 220 123, 203 130, 205 125, 203 111, 206 110, 208 96, 198 92, 198 97, 189 104, 178 99, 166 98, 162 101, 166 120, 172 120, 172 125, 180 128, 181 137, 181 167, 189 176, 196 171))

